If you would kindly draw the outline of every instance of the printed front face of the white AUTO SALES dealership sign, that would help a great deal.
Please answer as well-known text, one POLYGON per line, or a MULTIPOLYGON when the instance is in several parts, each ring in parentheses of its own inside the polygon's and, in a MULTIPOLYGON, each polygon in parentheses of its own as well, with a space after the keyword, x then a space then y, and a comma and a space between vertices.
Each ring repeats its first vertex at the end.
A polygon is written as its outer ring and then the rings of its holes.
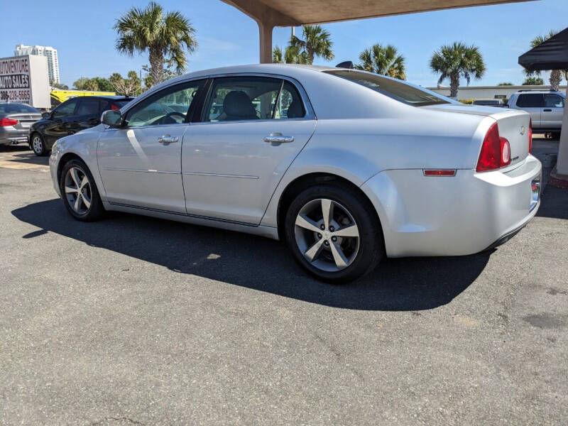
POLYGON ((0 60, 0 101, 31 104, 28 56, 0 60))

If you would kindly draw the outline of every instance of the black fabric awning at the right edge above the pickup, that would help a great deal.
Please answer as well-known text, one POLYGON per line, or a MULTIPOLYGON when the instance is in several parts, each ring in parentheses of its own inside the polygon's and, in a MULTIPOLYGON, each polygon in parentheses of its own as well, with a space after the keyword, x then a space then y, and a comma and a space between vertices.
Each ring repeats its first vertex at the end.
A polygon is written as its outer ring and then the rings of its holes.
POLYGON ((568 70, 568 28, 519 56, 529 71, 568 70))

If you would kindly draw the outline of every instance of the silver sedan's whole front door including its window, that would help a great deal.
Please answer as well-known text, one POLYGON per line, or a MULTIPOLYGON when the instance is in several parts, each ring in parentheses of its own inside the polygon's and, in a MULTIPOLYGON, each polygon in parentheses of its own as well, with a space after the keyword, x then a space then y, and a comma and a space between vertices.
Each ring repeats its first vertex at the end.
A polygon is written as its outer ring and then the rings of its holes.
POLYGON ((97 158, 109 202, 186 212, 182 142, 203 85, 194 80, 165 87, 126 111, 126 128, 103 132, 97 158))

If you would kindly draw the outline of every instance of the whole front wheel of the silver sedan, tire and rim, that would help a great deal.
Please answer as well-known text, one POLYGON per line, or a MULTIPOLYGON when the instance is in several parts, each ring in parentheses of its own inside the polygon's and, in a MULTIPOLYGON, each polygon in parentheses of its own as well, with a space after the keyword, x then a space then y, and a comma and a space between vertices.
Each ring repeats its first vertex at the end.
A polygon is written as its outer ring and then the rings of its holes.
POLYGON ((59 182, 65 208, 77 220, 89 222, 104 212, 101 197, 89 168, 81 160, 65 163, 59 182))

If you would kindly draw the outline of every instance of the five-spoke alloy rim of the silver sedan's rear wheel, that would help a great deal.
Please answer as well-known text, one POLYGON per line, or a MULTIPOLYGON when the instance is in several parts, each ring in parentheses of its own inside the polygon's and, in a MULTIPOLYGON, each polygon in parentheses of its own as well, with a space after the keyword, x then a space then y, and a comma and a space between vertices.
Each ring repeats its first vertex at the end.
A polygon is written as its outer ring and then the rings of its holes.
POLYGON ((346 207, 327 198, 307 202, 300 209, 294 233, 300 253, 321 271, 341 271, 359 252, 355 219, 346 207))

